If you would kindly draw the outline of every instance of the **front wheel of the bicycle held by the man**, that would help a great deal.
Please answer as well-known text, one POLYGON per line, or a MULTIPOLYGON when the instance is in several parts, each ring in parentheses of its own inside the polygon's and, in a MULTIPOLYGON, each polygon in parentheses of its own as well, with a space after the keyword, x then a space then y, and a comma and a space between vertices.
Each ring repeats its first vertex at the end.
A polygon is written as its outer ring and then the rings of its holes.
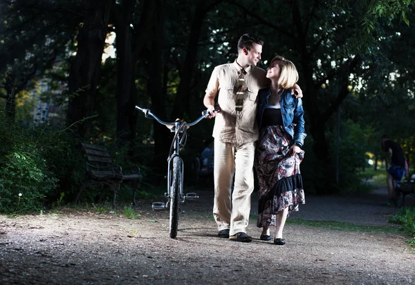
POLYGON ((173 179, 170 187, 170 237, 177 236, 178 228, 178 203, 182 183, 182 164, 179 157, 173 158, 173 179))

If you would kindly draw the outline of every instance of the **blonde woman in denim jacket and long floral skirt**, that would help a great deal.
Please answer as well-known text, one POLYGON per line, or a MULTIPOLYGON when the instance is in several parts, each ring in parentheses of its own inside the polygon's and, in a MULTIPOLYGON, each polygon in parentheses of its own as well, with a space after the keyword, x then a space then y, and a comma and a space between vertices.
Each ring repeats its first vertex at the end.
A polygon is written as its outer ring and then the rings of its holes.
POLYGON ((259 179, 257 226, 261 239, 270 240, 270 226, 276 227, 274 244, 284 245, 282 230, 288 213, 304 204, 304 190, 299 164, 304 132, 302 99, 291 96, 298 72, 291 61, 275 57, 266 74, 269 88, 258 93, 257 123, 259 140, 255 168, 259 179))

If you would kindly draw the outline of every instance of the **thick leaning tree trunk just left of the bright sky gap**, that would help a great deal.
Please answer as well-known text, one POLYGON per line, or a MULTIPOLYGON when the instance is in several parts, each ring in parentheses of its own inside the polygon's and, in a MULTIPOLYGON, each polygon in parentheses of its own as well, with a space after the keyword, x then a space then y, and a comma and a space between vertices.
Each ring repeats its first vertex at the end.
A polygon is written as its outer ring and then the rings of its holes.
POLYGON ((71 98, 68 102, 66 124, 72 126, 79 123, 77 133, 81 137, 91 132, 91 123, 82 120, 93 115, 102 52, 112 6, 113 0, 89 0, 84 23, 77 36, 77 53, 68 77, 71 98))

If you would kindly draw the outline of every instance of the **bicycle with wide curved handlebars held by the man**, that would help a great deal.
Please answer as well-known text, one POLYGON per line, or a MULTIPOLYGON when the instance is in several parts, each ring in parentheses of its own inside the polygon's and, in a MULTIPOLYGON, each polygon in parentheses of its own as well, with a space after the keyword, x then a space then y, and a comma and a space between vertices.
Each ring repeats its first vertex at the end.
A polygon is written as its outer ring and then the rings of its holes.
POLYGON ((197 201, 199 199, 197 193, 183 195, 183 159, 181 159, 179 154, 180 147, 186 144, 187 128, 196 125, 199 121, 208 117, 210 113, 204 110, 201 117, 192 123, 181 122, 179 119, 176 119, 174 123, 168 123, 158 119, 149 109, 141 108, 140 106, 136 106, 136 109, 142 111, 146 118, 156 119, 158 123, 167 126, 170 132, 174 132, 169 156, 167 157, 167 193, 165 193, 167 202, 154 202, 151 205, 153 210, 170 208, 169 235, 174 239, 177 236, 179 204, 183 204, 185 201, 197 201))

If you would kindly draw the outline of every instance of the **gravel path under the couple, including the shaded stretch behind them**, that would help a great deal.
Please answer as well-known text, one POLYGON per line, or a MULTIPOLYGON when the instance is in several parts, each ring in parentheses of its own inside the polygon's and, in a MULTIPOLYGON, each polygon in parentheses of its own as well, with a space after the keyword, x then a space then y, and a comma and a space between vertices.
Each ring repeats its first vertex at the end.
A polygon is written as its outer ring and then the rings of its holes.
MULTIPOLYGON (((395 209, 378 206, 385 191, 306 197, 293 218, 387 226, 395 209)), ((259 240, 252 219, 254 241, 231 242, 216 237, 212 192, 199 195, 183 207, 177 239, 168 237, 168 213, 151 211, 149 202, 138 207, 140 219, 71 209, 0 216, 0 283, 415 284, 415 254, 405 236, 287 224, 287 244, 275 246, 259 240)))

